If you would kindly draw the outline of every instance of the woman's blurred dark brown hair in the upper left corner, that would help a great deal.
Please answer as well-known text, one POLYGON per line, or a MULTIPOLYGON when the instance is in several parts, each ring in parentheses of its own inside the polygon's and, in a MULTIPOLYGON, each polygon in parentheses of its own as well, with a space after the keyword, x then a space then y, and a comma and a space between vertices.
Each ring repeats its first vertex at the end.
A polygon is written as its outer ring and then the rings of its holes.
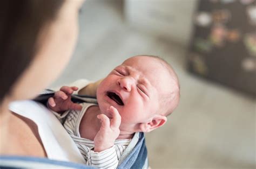
POLYGON ((37 52, 42 27, 64 0, 0 1, 0 103, 37 52))

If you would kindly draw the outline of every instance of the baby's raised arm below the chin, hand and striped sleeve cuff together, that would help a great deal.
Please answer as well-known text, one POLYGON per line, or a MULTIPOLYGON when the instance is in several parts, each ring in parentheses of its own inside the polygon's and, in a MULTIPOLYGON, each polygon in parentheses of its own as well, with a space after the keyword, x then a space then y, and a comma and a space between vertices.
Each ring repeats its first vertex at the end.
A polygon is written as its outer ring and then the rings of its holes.
POLYGON ((118 154, 114 147, 114 140, 120 133, 121 116, 113 106, 107 109, 107 112, 112 116, 111 119, 104 114, 97 116, 102 125, 94 138, 95 147, 88 153, 87 164, 99 168, 116 168, 118 154))

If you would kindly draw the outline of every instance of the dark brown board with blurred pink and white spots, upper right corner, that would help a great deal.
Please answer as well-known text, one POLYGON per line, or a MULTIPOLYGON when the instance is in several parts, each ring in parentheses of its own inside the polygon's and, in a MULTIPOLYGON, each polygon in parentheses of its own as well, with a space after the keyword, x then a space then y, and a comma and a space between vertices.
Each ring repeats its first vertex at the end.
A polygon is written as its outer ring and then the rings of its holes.
POLYGON ((256 0, 200 0, 188 71, 256 96, 256 0))

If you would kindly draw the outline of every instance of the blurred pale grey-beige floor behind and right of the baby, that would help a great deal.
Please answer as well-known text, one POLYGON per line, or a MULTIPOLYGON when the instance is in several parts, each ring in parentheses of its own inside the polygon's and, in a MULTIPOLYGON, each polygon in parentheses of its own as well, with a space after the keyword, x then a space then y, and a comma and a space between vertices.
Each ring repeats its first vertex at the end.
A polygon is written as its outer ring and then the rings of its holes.
POLYGON ((186 48, 132 29, 122 3, 87 0, 76 52, 52 86, 104 78, 137 54, 158 55, 181 84, 179 107, 167 124, 146 135, 152 168, 255 168, 256 101, 186 72, 186 48))

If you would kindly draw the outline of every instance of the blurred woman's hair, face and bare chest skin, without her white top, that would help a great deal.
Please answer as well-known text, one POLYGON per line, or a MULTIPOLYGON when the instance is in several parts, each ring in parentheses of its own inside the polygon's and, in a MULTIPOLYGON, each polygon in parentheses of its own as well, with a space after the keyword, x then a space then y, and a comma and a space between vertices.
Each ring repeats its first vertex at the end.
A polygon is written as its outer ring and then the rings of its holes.
POLYGON ((8 110, 35 97, 68 63, 83 0, 0 1, 0 153, 46 157, 37 125, 8 110))

